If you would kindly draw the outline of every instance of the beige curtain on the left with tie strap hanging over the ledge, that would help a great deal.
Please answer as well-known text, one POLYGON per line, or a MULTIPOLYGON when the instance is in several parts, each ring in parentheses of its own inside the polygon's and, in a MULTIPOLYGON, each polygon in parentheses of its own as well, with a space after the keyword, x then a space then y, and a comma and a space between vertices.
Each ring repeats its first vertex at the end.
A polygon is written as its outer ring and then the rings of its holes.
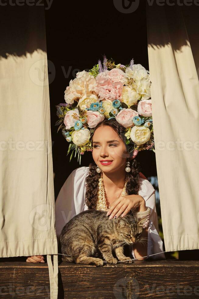
POLYGON ((22 14, 19 19, 24 16, 23 26, 22 31, 15 32, 19 40, 13 35, 12 49, 19 42, 16 49, 20 55, 13 55, 4 45, 7 57, 5 53, 0 57, 0 257, 47 254, 51 298, 57 298, 58 247, 44 6, 18 12, 22 14))

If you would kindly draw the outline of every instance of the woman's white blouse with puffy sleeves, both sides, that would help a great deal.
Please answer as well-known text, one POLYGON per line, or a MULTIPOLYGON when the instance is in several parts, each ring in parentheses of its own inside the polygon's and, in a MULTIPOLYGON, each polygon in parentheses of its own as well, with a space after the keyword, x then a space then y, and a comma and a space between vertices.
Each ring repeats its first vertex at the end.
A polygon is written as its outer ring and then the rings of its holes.
MULTIPOLYGON (((55 201, 55 227, 56 234, 59 243, 59 236, 64 225, 70 221, 75 215, 82 211, 88 210, 88 206, 85 203, 86 195, 86 177, 89 174, 89 167, 79 167, 72 171, 55 201)), ((163 250, 163 243, 159 236, 158 217, 155 206, 155 189, 152 184, 144 179, 140 178, 140 189, 138 194, 141 195, 145 202, 146 207, 150 208, 151 216, 148 226, 148 249, 147 256, 151 254, 152 259, 165 259, 165 254, 160 253, 163 250), (160 254, 156 254, 160 253, 160 254)), ((133 245, 132 255, 135 258, 133 245)), ((139 260, 139 259, 138 259, 139 260)))

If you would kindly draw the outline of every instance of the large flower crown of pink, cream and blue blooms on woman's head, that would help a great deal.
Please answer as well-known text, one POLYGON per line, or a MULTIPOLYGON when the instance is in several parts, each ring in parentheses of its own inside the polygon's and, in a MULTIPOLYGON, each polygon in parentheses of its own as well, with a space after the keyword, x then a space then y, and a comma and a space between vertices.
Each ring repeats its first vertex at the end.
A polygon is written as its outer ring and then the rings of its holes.
POLYGON ((70 161, 75 152, 81 164, 81 155, 93 150, 94 128, 105 118, 126 128, 125 142, 133 157, 145 149, 155 152, 150 86, 149 71, 134 59, 125 66, 104 55, 103 65, 99 59, 89 72, 78 72, 66 87, 66 103, 56 106, 56 125, 70 143, 70 161))

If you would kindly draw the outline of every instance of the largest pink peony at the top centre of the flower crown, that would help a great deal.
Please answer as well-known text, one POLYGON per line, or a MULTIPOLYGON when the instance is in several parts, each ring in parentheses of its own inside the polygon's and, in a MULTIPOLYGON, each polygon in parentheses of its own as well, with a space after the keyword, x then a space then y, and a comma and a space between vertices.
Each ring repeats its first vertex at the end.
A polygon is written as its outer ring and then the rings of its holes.
POLYGON ((100 100, 120 99, 126 74, 120 69, 105 70, 96 76, 95 92, 100 100))

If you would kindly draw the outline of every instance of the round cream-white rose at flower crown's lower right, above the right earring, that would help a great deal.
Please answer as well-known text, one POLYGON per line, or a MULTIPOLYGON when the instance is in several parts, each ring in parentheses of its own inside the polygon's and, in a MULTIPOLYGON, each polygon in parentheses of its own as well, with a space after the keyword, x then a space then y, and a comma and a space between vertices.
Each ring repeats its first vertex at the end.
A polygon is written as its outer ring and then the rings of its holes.
POLYGON ((131 129, 130 138, 137 145, 146 143, 150 137, 151 131, 145 126, 134 126, 131 129))

